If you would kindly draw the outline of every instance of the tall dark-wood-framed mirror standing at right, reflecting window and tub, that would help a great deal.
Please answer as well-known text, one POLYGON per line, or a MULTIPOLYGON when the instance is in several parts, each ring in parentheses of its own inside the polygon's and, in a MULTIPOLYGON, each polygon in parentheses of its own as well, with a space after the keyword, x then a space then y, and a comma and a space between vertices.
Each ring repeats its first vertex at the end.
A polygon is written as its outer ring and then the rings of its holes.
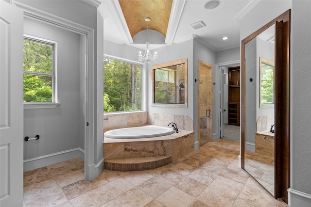
POLYGON ((288 203, 290 10, 243 39, 241 52, 241 167, 288 203))

